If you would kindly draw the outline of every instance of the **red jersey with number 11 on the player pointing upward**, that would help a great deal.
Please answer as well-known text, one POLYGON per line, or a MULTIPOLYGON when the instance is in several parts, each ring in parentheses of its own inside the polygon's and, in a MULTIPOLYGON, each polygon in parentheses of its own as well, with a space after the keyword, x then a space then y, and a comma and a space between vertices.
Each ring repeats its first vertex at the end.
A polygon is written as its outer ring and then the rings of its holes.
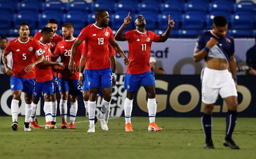
POLYGON ((142 33, 137 30, 130 30, 124 35, 128 41, 128 58, 130 60, 126 72, 128 74, 142 74, 151 71, 149 62, 151 45, 153 41, 160 40, 160 35, 151 31, 142 33))

